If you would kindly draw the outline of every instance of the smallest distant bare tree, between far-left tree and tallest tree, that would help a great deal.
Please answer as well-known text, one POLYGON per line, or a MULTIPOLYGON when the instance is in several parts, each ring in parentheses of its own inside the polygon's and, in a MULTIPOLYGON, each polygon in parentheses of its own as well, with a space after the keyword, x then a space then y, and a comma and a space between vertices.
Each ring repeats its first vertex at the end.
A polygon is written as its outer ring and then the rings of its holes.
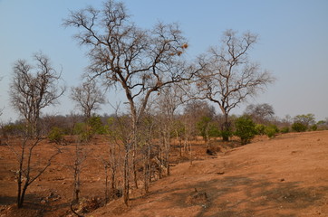
POLYGON ((87 80, 80 87, 72 88, 71 99, 76 102, 76 106, 82 110, 86 119, 90 119, 92 112, 100 109, 101 104, 106 102, 95 80, 87 80))

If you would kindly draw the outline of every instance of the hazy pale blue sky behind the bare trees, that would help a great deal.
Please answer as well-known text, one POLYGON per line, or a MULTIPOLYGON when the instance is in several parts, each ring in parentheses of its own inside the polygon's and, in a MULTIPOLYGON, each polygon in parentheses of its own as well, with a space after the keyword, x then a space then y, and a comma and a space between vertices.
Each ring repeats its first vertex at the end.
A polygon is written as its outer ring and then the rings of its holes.
MULTIPOLYGON (((69 114, 74 105, 70 88, 81 82, 88 65, 86 50, 72 38, 74 28, 63 27, 70 11, 100 0, 0 0, 0 121, 14 121, 18 115, 10 105, 9 85, 14 61, 33 63, 32 55, 43 52, 62 72, 67 87, 60 104, 46 114, 69 114)), ((178 23, 188 39, 188 58, 194 60, 219 45, 224 31, 250 31, 259 41, 250 52, 252 61, 276 78, 274 84, 248 99, 234 114, 242 114, 247 104, 268 103, 275 115, 284 118, 313 113, 317 120, 328 117, 328 1, 326 0, 122 0, 131 19, 142 28, 158 22, 178 23)), ((112 105, 124 102, 120 90, 108 92, 112 105)), ((99 113, 111 114, 109 104, 99 113)), ((217 112, 218 109, 217 109, 217 112)))

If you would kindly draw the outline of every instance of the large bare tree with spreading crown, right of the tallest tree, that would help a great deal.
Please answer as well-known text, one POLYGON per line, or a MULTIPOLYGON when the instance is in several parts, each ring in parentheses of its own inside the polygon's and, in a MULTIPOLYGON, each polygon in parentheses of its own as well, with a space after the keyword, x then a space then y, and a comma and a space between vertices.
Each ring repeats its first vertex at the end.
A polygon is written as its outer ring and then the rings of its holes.
MULTIPOLYGON (((225 118, 222 125, 224 132, 230 130, 230 111, 275 80, 248 58, 248 52, 256 41, 256 34, 238 36, 236 32, 227 30, 222 46, 211 47, 207 55, 199 58, 204 70, 198 73, 198 96, 217 104, 225 118)), ((227 141, 228 134, 224 134, 223 139, 227 141)))

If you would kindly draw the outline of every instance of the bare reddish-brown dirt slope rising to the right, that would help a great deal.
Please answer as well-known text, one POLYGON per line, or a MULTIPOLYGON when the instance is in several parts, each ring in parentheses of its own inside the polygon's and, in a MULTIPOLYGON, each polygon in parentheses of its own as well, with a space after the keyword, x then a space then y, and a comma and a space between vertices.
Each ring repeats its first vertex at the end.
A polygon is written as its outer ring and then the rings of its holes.
POLYGON ((183 163, 89 216, 328 216, 328 131, 287 134, 183 163))

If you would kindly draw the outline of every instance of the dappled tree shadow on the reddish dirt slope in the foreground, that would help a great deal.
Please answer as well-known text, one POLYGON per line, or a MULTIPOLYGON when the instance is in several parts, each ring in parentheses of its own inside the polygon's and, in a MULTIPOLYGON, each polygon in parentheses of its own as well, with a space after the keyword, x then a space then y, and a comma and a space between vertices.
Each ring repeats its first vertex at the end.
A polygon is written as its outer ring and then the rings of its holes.
POLYGON ((328 186, 303 188, 296 182, 272 183, 245 176, 226 176, 163 189, 154 194, 162 194, 161 201, 170 201, 170 207, 200 206, 200 212, 194 215, 198 217, 259 216, 268 211, 275 212, 278 217, 293 217, 302 209, 320 203, 327 192, 328 186), (206 193, 207 201, 188 203, 188 198, 195 192, 206 193), (237 198, 234 197, 236 193, 237 198))

